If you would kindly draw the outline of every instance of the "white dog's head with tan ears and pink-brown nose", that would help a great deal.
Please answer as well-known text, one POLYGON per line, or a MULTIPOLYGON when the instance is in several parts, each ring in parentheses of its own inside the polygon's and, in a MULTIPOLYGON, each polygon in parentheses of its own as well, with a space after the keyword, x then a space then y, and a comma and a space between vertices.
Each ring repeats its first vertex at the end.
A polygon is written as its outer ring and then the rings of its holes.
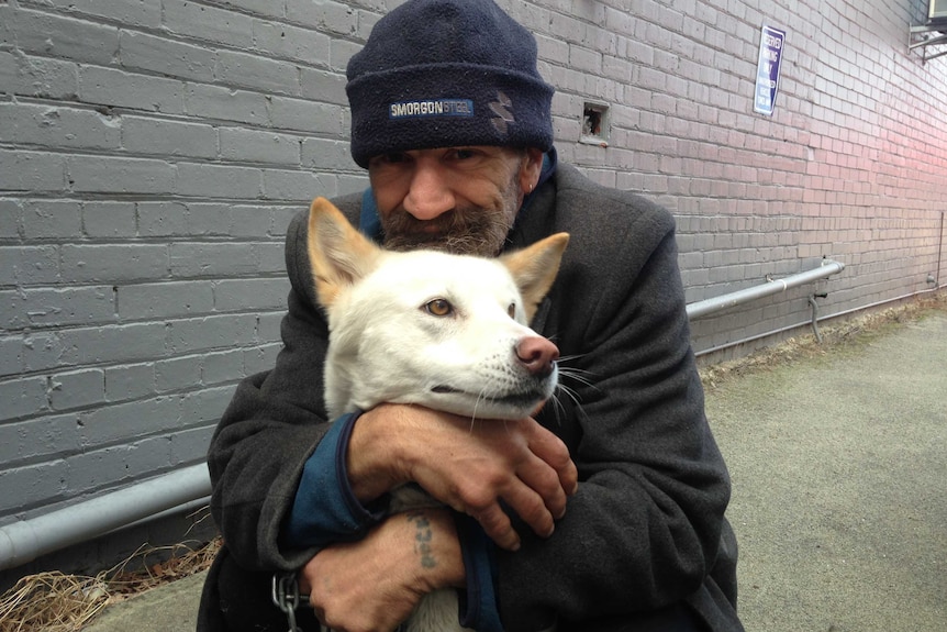
POLYGON ((527 326, 569 241, 497 259, 390 252, 327 200, 309 214, 309 257, 328 318, 331 415, 381 402, 482 419, 530 415, 556 388, 556 346, 527 326))

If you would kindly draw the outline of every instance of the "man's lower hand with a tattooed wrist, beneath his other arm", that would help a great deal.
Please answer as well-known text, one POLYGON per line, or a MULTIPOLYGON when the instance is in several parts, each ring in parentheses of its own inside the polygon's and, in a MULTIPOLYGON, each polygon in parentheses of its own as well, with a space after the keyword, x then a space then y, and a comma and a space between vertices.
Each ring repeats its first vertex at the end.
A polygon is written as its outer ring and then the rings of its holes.
POLYGON ((447 509, 390 515, 363 540, 322 550, 299 583, 333 630, 394 630, 427 592, 464 586, 454 519, 447 509))

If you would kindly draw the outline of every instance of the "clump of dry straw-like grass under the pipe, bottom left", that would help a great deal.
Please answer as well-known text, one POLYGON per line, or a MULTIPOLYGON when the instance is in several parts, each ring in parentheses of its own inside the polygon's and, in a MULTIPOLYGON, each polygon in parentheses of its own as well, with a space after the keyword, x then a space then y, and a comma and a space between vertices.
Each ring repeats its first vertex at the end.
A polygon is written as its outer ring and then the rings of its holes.
POLYGON ((220 544, 143 545, 96 577, 27 575, 0 598, 0 632, 76 632, 110 603, 208 568, 220 544))

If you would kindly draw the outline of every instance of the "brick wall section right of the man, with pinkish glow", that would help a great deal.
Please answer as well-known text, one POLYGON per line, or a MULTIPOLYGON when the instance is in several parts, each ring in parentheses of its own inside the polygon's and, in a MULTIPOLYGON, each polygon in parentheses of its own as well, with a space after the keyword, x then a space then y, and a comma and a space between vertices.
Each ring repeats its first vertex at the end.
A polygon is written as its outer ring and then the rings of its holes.
POLYGON ((504 5, 539 37, 562 157, 675 212, 690 301, 846 265, 694 322, 698 350, 806 321, 813 291, 833 314, 945 282, 947 58, 907 49, 926 2, 535 4, 504 5), (764 24, 787 32, 772 117, 753 110, 764 24), (579 142, 588 100, 608 147, 579 142))

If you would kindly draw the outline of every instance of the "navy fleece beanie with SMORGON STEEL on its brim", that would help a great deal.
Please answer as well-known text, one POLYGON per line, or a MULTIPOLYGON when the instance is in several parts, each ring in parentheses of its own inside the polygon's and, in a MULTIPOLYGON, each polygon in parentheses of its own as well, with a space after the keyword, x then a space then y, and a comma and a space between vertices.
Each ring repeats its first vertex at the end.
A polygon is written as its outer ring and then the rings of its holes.
POLYGON ((491 0, 409 0, 348 63, 352 157, 409 149, 553 146, 553 87, 533 34, 491 0))

